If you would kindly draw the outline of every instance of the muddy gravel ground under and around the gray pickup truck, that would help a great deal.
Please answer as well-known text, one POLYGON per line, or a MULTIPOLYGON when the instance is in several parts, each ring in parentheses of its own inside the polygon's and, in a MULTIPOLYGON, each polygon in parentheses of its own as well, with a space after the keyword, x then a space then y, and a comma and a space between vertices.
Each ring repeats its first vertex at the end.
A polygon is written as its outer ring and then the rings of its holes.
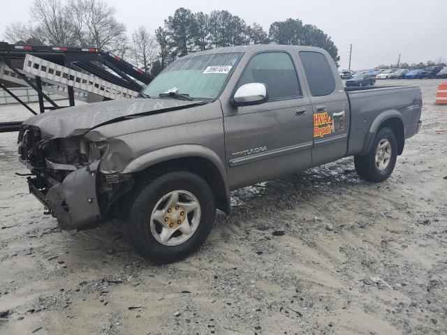
MULTIPOLYGON (((190 258, 154 266, 105 224, 61 232, 0 134, 1 334, 446 334, 447 106, 382 184, 352 158, 233 192, 190 258), (439 132, 437 132, 439 131, 439 132), (275 233, 276 232, 276 233, 275 233)), ((22 107, 0 107, 21 119, 22 107)))

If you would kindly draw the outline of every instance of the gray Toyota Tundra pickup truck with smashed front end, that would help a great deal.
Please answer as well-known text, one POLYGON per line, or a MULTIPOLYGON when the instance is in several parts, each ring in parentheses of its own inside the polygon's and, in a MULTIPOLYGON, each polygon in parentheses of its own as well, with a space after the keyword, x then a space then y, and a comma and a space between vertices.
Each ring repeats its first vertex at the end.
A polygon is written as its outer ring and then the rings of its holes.
POLYGON ((189 54, 140 95, 31 117, 19 154, 61 229, 122 218, 156 263, 203 244, 237 188, 346 156, 387 179, 422 107, 416 86, 344 88, 328 52, 291 45, 189 54))

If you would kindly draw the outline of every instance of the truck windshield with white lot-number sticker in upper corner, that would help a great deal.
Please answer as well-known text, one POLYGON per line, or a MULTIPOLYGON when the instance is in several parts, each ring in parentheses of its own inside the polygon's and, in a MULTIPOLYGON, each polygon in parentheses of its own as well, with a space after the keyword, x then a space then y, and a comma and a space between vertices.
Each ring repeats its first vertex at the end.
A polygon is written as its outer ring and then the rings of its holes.
POLYGON ((216 53, 178 59, 157 75, 142 94, 149 98, 184 94, 193 99, 215 99, 240 55, 216 53))

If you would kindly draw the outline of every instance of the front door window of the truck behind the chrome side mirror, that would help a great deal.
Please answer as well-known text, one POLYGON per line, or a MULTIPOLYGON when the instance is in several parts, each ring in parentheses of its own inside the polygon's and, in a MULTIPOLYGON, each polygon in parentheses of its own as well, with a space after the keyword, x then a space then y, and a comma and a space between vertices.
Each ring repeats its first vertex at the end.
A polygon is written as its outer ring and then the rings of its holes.
POLYGON ((250 59, 237 87, 250 82, 265 84, 269 100, 301 96, 295 66, 285 52, 265 52, 250 59))

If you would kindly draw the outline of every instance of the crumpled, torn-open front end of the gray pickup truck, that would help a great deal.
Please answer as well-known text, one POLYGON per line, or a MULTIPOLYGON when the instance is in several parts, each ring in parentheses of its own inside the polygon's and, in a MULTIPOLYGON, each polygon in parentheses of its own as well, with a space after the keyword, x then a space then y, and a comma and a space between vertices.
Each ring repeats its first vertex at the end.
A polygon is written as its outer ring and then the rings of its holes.
POLYGON ((57 218, 63 230, 95 227, 113 200, 131 188, 130 176, 98 171, 108 149, 105 141, 44 139, 39 128, 23 126, 19 144, 20 161, 32 174, 29 192, 57 218))

